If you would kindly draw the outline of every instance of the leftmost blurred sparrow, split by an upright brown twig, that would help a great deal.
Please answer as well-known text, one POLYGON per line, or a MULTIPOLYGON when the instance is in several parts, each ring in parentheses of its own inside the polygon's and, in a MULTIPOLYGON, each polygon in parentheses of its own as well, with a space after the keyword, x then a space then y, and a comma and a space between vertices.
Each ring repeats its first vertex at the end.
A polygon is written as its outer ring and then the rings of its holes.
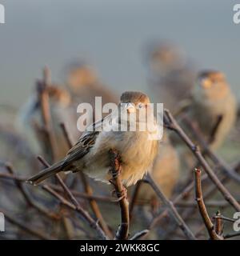
MULTIPOLYGON (((60 159, 63 158, 68 151, 66 138, 64 138, 64 134, 60 128, 60 123, 64 122, 66 128, 70 130, 72 139, 77 139, 78 134, 74 133, 75 130, 72 128, 75 127, 75 118, 70 110, 70 94, 68 94, 66 90, 56 85, 47 86, 46 90, 50 101, 53 134, 57 143, 56 158, 60 159)), ((38 94, 35 93, 29 98, 28 102, 22 106, 16 120, 18 131, 26 138, 34 154, 43 154, 45 151, 44 143, 42 143, 42 139, 39 140, 37 138, 36 130, 34 129, 34 125, 41 126, 42 124, 41 111, 38 94)))

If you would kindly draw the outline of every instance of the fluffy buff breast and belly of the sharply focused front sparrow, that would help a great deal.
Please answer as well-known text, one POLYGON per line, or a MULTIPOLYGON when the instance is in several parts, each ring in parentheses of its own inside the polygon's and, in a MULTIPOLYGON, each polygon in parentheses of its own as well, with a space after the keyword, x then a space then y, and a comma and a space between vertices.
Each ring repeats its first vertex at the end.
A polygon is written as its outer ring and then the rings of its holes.
POLYGON ((142 178, 152 165, 157 154, 158 142, 149 139, 148 132, 104 132, 102 131, 86 155, 83 170, 91 178, 108 182, 110 178, 109 150, 118 150, 122 160, 122 180, 130 186, 142 178))

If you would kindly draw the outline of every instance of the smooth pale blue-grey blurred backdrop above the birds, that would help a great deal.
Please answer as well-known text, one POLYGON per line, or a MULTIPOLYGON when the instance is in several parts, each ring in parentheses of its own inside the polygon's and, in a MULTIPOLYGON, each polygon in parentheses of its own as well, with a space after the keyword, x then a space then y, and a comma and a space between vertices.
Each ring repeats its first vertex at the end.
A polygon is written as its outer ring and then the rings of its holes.
POLYGON ((238 98, 240 25, 231 0, 1 0, 0 103, 20 106, 40 69, 55 81, 75 58, 97 67, 118 92, 146 90, 144 46, 169 39, 200 68, 224 71, 238 98), (14 94, 13 94, 14 92, 14 94))

